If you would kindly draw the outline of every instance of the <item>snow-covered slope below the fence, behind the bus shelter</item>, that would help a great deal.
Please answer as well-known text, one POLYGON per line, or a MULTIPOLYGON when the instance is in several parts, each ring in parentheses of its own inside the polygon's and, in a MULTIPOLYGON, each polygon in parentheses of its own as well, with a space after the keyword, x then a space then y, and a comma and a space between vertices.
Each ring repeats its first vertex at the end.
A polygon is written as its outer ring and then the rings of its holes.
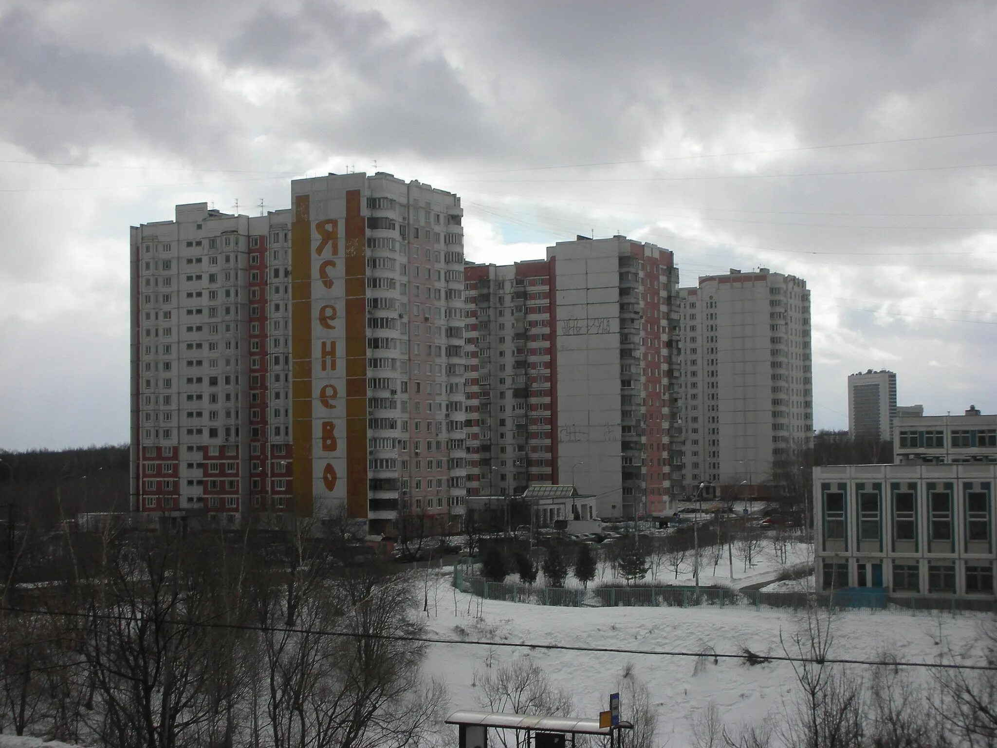
MULTIPOLYGON (((613 648, 782 654, 780 633, 790 636, 802 625, 799 613, 712 607, 567 608, 483 600, 455 591, 441 569, 429 590, 432 635, 502 642, 558 643, 613 648)), ((799 585, 799 582, 797 582, 799 585)), ((806 582, 805 582, 806 583, 806 582)), ((902 613, 849 611, 832 622, 831 656, 875 659, 891 652, 899 659, 933 661, 951 649, 966 661, 979 657, 982 618, 908 616, 902 613)), ((427 674, 444 679, 452 708, 481 708, 476 673, 517 656, 536 662, 557 685, 574 694, 577 716, 607 709, 608 694, 631 666, 650 689, 657 712, 657 744, 686 746, 696 715, 714 702, 728 726, 760 720, 788 707, 796 683, 789 663, 748 665, 741 660, 708 658, 697 672, 694 657, 589 653, 531 648, 433 644, 427 674), (705 667, 703 667, 705 664, 705 667)), ((858 667, 865 675, 871 668, 858 667)), ((926 670, 917 671, 926 677, 926 670)))

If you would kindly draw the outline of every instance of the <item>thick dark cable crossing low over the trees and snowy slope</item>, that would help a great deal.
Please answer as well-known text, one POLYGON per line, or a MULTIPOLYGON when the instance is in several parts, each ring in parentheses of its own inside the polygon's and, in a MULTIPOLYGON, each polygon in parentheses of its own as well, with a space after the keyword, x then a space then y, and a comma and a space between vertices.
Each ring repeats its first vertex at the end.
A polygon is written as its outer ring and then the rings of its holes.
MULTIPOLYGON (((0 606, 0 610, 19 613, 30 613, 36 615, 64 616, 71 618, 87 618, 93 620, 118 620, 132 622, 136 616, 114 615, 111 613, 78 612, 78 611, 56 611, 39 610, 33 608, 21 608, 12 606, 0 606)), ((362 633, 357 631, 330 631, 323 628, 304 628, 299 626, 265 626, 250 625, 247 623, 212 623, 200 620, 165 619, 163 623, 177 626, 189 626, 191 628, 225 628, 240 631, 257 631, 260 633, 295 633, 309 636, 337 636, 351 639, 376 639, 383 641, 410 641, 421 644, 464 644, 466 646, 488 646, 517 649, 544 649, 568 652, 590 652, 598 654, 643 654, 659 657, 702 657, 704 653, 699 651, 686 651, 681 649, 631 649, 625 647, 608 646, 584 646, 581 644, 541 644, 528 641, 489 641, 486 639, 448 639, 437 636, 415 636, 412 634, 391 634, 391 633, 362 633)), ((706 656, 717 659, 747 660, 755 655, 736 654, 732 652, 709 652, 706 656)), ((841 665, 872 665, 888 667, 929 667, 945 670, 988 670, 997 671, 997 665, 967 665, 956 662, 919 662, 906 660, 883 660, 883 659, 858 659, 851 657, 794 657, 789 654, 767 655, 766 659, 774 662, 801 662, 812 664, 841 664, 841 665)))

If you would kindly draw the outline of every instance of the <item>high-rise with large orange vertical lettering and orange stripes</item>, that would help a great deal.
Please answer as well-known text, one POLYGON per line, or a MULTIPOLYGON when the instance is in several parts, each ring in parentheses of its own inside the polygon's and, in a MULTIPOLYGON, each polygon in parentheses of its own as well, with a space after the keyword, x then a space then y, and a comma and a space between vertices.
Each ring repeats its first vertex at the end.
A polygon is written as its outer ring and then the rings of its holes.
POLYGON ((291 191, 291 209, 263 216, 192 203, 133 227, 133 506, 451 524, 460 198, 383 173, 291 191))

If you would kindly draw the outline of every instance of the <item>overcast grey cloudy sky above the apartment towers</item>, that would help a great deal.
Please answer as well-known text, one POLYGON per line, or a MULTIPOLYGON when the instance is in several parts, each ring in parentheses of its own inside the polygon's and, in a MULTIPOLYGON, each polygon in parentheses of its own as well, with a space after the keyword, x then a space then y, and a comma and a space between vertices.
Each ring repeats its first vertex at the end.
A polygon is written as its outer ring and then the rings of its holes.
POLYGON ((0 0, 0 448, 129 438, 130 225, 292 177, 459 193, 478 261, 576 233, 807 280, 845 380, 997 412, 997 4, 0 0))

